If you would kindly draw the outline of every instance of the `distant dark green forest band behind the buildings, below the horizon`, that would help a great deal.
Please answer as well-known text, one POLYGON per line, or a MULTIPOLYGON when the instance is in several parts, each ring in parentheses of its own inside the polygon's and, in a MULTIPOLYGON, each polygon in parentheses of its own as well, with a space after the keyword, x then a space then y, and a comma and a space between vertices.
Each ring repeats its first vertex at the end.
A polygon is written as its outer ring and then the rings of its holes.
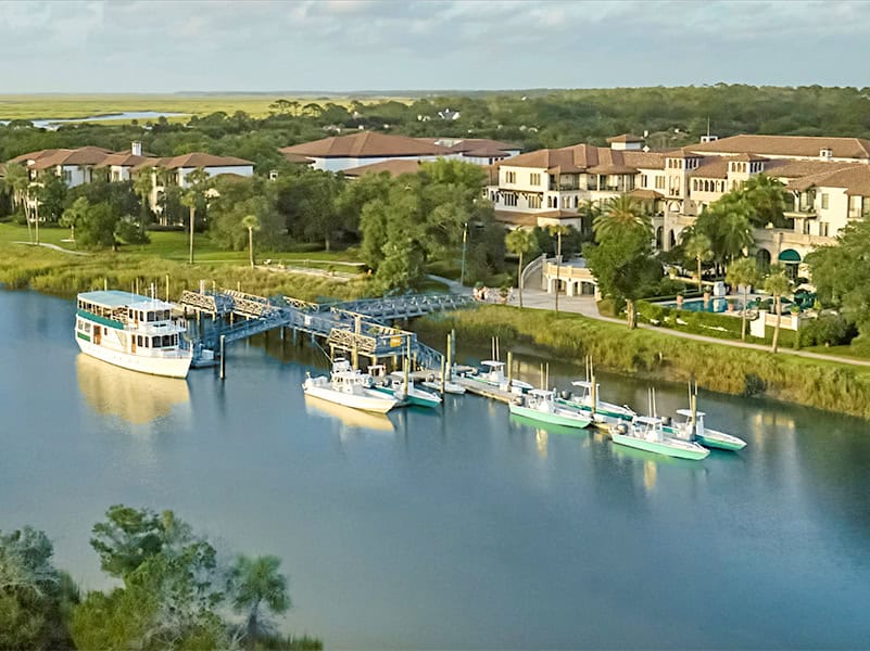
POLYGON ((706 133, 852 136, 870 138, 870 88, 756 87, 717 84, 680 88, 529 90, 445 94, 413 101, 330 102, 276 97, 272 114, 236 111, 194 116, 187 124, 66 125, 56 131, 15 120, 0 127, 0 159, 49 148, 85 144, 121 150, 142 140, 148 152, 190 151, 241 156, 261 174, 278 166, 278 148, 338 130, 375 129, 416 137, 493 138, 525 150, 578 142, 604 144, 623 132, 647 135, 652 148, 695 142, 706 133), (439 115, 458 112, 452 119, 439 115), (148 127, 143 129, 142 127, 148 127))

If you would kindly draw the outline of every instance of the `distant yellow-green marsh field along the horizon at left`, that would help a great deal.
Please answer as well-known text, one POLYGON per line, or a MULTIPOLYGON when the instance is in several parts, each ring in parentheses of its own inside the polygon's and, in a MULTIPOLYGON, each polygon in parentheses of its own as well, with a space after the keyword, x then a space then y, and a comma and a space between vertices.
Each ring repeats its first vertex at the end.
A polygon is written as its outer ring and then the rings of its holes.
MULTIPOLYGON (((352 98, 336 97, 292 97, 266 94, 228 95, 179 95, 179 94, 0 94, 0 119, 48 119, 89 117, 111 113, 156 111, 207 115, 216 111, 232 114, 244 111, 255 117, 269 113, 269 104, 275 100, 295 100, 301 104, 310 102, 348 105, 352 98)), ((402 98, 390 98, 405 101, 402 98)), ((365 98, 364 103, 378 101, 365 98)), ((117 123, 114 123, 117 124, 117 123)))

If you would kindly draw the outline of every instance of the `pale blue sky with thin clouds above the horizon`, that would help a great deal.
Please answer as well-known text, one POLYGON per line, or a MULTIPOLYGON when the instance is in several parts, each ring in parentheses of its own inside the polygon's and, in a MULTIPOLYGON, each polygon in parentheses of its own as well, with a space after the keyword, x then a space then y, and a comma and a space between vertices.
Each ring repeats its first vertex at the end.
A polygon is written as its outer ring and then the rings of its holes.
POLYGON ((0 92, 870 87, 870 0, 0 0, 0 92))

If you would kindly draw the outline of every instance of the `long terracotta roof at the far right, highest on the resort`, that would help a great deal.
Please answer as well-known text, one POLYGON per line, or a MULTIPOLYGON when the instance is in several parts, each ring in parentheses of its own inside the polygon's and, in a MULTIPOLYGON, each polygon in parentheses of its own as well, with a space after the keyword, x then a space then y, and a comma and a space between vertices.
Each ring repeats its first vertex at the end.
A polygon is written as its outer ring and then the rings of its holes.
POLYGON ((860 138, 828 138, 819 136, 754 136, 742 135, 720 138, 713 142, 688 145, 693 152, 723 154, 761 154, 769 156, 819 157, 830 149, 835 158, 870 161, 870 140, 860 138))

